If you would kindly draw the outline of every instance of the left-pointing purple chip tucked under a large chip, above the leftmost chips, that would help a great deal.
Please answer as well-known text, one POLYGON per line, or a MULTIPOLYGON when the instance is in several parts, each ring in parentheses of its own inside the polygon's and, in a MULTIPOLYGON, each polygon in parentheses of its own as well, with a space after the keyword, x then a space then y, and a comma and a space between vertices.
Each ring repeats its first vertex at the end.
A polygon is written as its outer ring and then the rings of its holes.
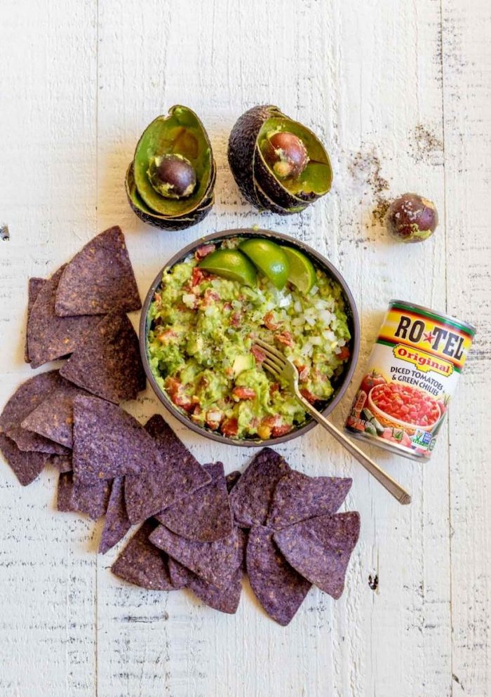
POLYGON ((60 380, 60 387, 48 394, 34 411, 22 421, 22 428, 38 433, 67 448, 73 446, 73 403, 78 394, 88 394, 60 380))

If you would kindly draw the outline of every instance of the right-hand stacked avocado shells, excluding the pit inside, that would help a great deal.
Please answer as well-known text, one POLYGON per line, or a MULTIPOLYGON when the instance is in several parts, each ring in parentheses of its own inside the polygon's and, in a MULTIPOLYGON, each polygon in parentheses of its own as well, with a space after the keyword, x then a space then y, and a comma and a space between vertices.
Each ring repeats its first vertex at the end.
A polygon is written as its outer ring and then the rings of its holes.
POLYGON ((273 105, 253 107, 242 114, 232 128, 228 155, 238 187, 257 208, 281 210, 282 215, 299 213, 330 190, 332 168, 321 141, 273 105), (264 158, 268 136, 279 131, 295 133, 307 147, 309 162, 294 180, 279 180, 264 158))

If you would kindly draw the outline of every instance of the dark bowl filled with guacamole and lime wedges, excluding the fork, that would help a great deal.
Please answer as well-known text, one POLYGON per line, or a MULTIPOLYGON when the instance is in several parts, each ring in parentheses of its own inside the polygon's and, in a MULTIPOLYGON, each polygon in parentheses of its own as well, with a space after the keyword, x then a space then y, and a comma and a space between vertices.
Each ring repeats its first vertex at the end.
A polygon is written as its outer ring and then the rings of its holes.
POLYGON ((292 361, 316 409, 335 408, 358 358, 358 312, 341 274, 297 239, 270 230, 210 234, 174 255, 149 289, 140 320, 145 372, 173 416, 208 438, 264 446, 315 425, 288 385, 262 367, 255 338, 292 361), (252 255, 249 247, 261 245, 265 253, 252 255), (267 245, 280 246, 293 265, 304 261, 310 279, 297 281, 302 290, 285 281, 267 245))

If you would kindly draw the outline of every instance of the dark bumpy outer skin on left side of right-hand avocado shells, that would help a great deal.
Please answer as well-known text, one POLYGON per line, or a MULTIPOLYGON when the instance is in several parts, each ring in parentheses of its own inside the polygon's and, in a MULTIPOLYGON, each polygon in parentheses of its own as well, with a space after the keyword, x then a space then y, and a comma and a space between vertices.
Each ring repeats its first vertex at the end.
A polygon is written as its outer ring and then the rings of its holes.
POLYGON ((244 112, 232 128, 229 137, 229 165, 238 188, 250 204, 263 208, 255 194, 254 155, 262 124, 272 116, 280 116, 281 111, 273 105, 263 104, 244 112))

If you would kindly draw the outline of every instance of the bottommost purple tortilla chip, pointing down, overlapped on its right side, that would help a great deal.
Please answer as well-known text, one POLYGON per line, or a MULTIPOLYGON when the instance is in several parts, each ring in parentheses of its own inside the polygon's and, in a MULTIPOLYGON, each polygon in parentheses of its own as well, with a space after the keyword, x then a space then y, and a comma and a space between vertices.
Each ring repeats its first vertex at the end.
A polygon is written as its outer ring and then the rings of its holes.
POLYGON ((295 616, 311 584, 283 558, 274 543, 273 532, 263 526, 249 531, 247 573, 264 610, 285 627, 295 616))

